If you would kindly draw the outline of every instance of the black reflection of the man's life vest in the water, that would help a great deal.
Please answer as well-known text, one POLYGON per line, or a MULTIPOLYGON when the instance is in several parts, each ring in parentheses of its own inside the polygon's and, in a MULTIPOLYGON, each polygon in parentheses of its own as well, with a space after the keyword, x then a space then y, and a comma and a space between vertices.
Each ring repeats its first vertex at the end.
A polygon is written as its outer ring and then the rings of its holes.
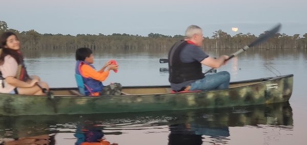
POLYGON ((185 124, 170 125, 169 129, 168 145, 198 145, 203 143, 202 135, 196 135, 194 132, 188 131, 185 124))

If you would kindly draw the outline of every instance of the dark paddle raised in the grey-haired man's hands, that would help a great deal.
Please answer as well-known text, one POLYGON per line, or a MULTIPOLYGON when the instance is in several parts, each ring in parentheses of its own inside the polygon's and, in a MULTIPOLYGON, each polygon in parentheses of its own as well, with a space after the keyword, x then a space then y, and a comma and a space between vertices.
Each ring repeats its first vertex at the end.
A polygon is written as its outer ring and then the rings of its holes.
MULTIPOLYGON (((240 50, 238 50, 237 52, 235 52, 235 53, 233 53, 232 55, 230 55, 230 57, 229 57, 226 61, 230 60, 231 58, 237 56, 238 54, 240 54, 240 53, 242 53, 242 52, 244 52, 244 51, 247 51, 250 47, 252 47, 252 46, 254 46, 254 45, 256 45, 256 44, 259 44, 259 43, 261 43, 261 42, 264 42, 264 41, 266 41, 267 39, 273 37, 273 36, 279 31, 280 26, 281 26, 281 23, 278 23, 278 25, 275 26, 273 29, 271 29, 270 31, 268 31, 268 32, 265 33, 265 34, 262 34, 262 35, 259 36, 255 41, 253 41, 252 43, 250 43, 250 44, 247 45, 247 46, 244 46, 243 49, 240 49, 240 50)), ((214 68, 211 68, 211 69, 209 69, 208 71, 206 71, 206 72, 204 73, 204 75, 207 74, 208 72, 210 72, 212 69, 214 69, 214 68)))

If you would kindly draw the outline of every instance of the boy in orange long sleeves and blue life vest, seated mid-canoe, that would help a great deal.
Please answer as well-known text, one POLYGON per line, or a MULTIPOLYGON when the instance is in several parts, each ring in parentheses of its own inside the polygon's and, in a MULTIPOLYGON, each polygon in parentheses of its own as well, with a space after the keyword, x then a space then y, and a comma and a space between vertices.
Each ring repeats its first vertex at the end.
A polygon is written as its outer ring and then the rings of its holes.
POLYGON ((83 83, 85 84, 85 95, 121 95, 122 86, 120 83, 113 83, 103 86, 101 81, 104 81, 109 70, 118 69, 117 64, 111 64, 107 61, 105 65, 96 70, 92 65, 94 62, 93 52, 87 48, 82 47, 76 51, 76 74, 82 76, 83 83), (107 68, 106 70, 104 70, 107 68))

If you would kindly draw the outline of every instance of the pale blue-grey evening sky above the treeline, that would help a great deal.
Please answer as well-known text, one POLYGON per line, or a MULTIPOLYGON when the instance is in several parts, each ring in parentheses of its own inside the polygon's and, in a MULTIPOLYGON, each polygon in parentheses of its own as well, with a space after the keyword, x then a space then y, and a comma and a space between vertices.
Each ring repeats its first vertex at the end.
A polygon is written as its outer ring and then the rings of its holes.
POLYGON ((205 37, 218 30, 258 36, 278 22, 279 33, 300 37, 307 33, 306 0, 0 0, 0 4, 0 20, 9 28, 40 34, 174 36, 197 25, 205 37))

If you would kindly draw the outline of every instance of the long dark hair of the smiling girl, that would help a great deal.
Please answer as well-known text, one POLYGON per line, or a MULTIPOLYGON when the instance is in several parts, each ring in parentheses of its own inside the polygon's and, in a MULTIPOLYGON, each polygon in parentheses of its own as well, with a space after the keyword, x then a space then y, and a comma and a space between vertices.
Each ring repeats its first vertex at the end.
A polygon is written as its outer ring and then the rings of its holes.
POLYGON ((4 63, 4 57, 6 57, 7 55, 12 56, 17 61, 18 64, 21 63, 21 61, 23 61, 23 56, 17 50, 4 47, 6 45, 8 37, 12 35, 16 36, 15 33, 7 31, 0 36, 0 49, 2 49, 2 53, 0 55, 0 65, 4 63))

